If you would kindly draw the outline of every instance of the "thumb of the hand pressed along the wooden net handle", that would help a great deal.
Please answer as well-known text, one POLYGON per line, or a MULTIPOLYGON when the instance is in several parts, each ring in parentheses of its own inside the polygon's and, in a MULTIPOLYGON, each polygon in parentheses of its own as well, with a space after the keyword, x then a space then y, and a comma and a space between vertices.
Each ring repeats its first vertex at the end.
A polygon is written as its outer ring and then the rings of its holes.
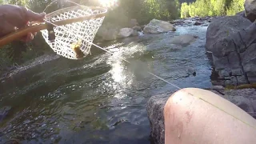
POLYGON ((46 13, 38 14, 38 13, 35 13, 34 11, 29 10, 29 9, 25 10, 25 14, 26 14, 26 20, 27 21, 44 22, 43 19, 46 17, 46 13))

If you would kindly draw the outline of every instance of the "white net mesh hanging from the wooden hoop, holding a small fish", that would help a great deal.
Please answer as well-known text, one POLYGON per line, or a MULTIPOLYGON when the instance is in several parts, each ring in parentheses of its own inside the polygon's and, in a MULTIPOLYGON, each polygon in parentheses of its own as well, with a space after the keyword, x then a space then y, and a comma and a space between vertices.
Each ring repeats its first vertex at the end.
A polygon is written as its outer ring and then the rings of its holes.
MULTIPOLYGON (((101 13, 101 10, 92 10, 90 7, 79 6, 76 9, 55 14, 51 18, 47 18, 46 21, 54 22, 101 13)), ((48 39, 48 30, 41 30, 42 37, 57 54, 70 59, 84 58, 86 55, 90 54, 91 42, 94 41, 98 28, 102 26, 103 19, 104 17, 100 17, 83 22, 74 22, 64 26, 55 26, 55 39, 53 42, 48 39)))

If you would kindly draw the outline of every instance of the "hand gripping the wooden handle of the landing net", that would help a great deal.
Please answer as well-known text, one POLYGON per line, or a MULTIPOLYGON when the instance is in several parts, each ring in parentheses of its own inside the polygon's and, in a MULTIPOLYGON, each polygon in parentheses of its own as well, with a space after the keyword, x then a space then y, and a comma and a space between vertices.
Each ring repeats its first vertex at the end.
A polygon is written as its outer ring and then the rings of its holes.
MULTIPOLYGON (((34 13, 24 6, 1 5, 0 6, 0 38, 6 34, 10 34, 15 30, 27 26, 28 22, 44 22, 46 14, 34 13)), ((29 33, 22 41, 29 42, 34 35, 29 33)))

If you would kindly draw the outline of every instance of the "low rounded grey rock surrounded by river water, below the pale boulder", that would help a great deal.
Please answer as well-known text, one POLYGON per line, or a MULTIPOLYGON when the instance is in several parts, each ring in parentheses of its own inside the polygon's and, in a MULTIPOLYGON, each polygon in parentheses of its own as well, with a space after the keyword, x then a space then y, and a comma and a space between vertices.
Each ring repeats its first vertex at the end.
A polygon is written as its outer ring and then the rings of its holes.
POLYGON ((187 46, 190 45, 191 42, 194 42, 196 38, 197 37, 192 34, 182 34, 172 38, 170 42, 176 45, 187 46))

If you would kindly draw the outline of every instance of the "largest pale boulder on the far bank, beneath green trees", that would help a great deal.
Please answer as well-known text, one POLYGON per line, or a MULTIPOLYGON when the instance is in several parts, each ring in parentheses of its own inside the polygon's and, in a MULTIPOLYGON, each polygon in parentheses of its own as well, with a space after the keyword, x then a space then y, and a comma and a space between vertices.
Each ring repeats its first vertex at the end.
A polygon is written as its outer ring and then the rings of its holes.
POLYGON ((147 24, 143 31, 144 34, 159 34, 166 33, 168 31, 175 31, 176 29, 170 22, 161 21, 158 19, 153 19, 147 24))

